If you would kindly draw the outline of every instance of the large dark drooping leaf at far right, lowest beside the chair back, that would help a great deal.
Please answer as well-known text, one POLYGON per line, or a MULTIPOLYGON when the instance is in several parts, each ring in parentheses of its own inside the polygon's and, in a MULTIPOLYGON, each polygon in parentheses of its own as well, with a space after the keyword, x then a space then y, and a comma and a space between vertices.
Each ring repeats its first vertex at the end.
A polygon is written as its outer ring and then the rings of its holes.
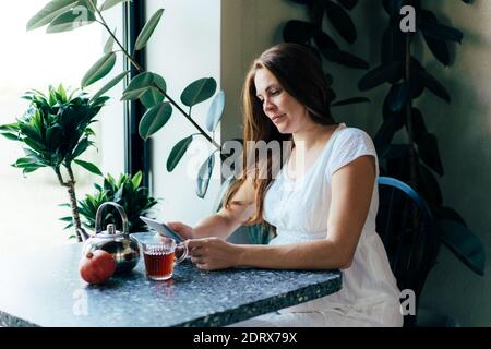
POLYGON ((474 273, 484 276, 486 251, 481 240, 467 227, 450 220, 436 220, 443 243, 474 273))

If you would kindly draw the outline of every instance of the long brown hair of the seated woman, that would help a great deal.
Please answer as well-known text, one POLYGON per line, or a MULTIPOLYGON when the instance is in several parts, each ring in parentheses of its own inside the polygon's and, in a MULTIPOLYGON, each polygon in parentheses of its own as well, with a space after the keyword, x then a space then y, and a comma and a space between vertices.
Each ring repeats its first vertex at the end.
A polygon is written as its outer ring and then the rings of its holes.
MULTIPOLYGON (((297 44, 276 45, 255 59, 246 77, 242 89, 244 145, 250 141, 283 141, 291 140, 290 134, 282 134, 263 111, 263 106, 256 97, 254 84, 255 73, 260 69, 267 69, 282 87, 303 105, 311 120, 318 124, 331 125, 335 121, 331 115, 328 100, 328 85, 322 70, 321 60, 307 47, 297 44)), ((231 204, 242 204, 232 201, 233 195, 248 179, 253 176, 255 214, 246 222, 249 225, 263 224, 263 201, 267 185, 273 179, 272 156, 267 154, 265 164, 259 164, 254 157, 254 173, 246 161, 250 158, 248 147, 243 147, 243 173, 230 185, 224 198, 225 207, 231 204), (256 176, 259 167, 266 166, 266 178, 256 176)), ((263 169, 264 170, 264 169, 263 169)))

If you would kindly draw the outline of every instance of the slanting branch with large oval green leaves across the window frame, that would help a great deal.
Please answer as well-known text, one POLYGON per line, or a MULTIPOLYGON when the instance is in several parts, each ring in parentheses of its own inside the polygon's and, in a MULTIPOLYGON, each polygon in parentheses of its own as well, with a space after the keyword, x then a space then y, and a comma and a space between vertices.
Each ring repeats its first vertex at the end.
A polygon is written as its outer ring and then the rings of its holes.
MULTIPOLYGON (((100 24, 108 32, 109 39, 104 47, 104 56, 91 67, 82 79, 82 88, 85 88, 108 75, 115 67, 117 55, 121 53, 123 59, 129 62, 129 65, 133 68, 132 71, 125 71, 116 75, 95 94, 94 98, 101 96, 115 87, 118 83, 123 81, 129 73, 131 73, 131 75, 136 73, 125 87, 121 99, 139 99, 146 108, 146 112, 139 125, 140 135, 145 140, 155 134, 167 123, 172 115, 173 108, 176 108, 193 124, 197 130, 197 133, 184 137, 172 147, 167 159, 167 170, 173 171, 192 141, 196 136, 203 136, 216 148, 203 163, 197 176, 196 194, 199 197, 204 197, 215 165, 215 153, 221 152, 220 145, 214 140, 214 133, 223 116, 225 94, 223 92, 216 94, 209 107, 206 119, 206 132, 193 120, 191 112, 195 105, 203 103, 215 95, 217 88, 216 81, 213 77, 205 77, 191 83, 183 89, 180 96, 182 107, 176 103, 167 94, 165 79, 157 73, 144 71, 135 59, 135 52, 144 49, 147 45, 163 16, 164 9, 157 10, 151 16, 133 45, 133 52, 129 52, 127 47, 124 47, 116 37, 116 31, 110 29, 104 16, 105 11, 124 2, 128 2, 128 0, 52 0, 28 21, 27 29, 31 31, 47 25, 47 33, 60 33, 72 31, 92 23, 100 24), (98 2, 101 3, 99 4, 98 2), (115 49, 115 45, 117 46, 117 49, 115 49), (189 108, 189 111, 185 112, 183 108, 189 108)), ((132 5, 132 3, 128 3, 127 5, 132 5)))

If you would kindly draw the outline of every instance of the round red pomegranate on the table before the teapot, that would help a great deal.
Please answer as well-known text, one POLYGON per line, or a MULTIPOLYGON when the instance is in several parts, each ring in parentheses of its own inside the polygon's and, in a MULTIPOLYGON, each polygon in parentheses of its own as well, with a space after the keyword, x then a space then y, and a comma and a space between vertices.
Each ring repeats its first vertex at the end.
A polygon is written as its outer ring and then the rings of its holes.
POLYGON ((112 255, 103 250, 87 252, 79 264, 80 276, 88 284, 103 284, 116 270, 112 255))

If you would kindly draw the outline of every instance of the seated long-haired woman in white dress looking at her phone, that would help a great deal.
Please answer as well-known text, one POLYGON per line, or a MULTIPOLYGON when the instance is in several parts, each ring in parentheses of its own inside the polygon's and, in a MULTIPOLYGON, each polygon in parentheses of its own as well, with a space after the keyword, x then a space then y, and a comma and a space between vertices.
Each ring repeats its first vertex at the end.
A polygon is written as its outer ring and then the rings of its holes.
POLYGON ((321 61, 309 49, 282 44, 265 51, 244 84, 244 141, 291 140, 289 158, 278 173, 272 166, 278 154, 244 166, 224 207, 194 228, 168 224, 190 239, 191 260, 202 269, 342 269, 337 293, 239 326, 403 323, 399 290, 375 231, 375 149, 363 131, 334 122, 327 91, 321 61), (258 222, 276 228, 270 244, 225 240, 241 225, 258 222))

